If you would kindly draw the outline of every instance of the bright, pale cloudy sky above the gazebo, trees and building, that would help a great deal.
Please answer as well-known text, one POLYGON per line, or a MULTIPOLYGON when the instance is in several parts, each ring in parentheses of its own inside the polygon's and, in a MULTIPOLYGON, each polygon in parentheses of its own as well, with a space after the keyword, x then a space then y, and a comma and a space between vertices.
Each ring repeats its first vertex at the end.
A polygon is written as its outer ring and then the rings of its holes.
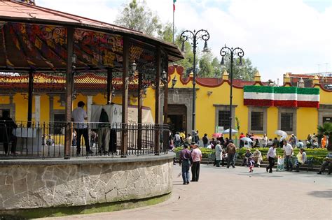
MULTIPOLYGON (((36 0, 36 5, 113 23, 129 2, 36 0)), ((146 3, 161 22, 172 22, 173 0, 146 3)), ((223 45, 241 47, 262 80, 332 72, 331 0, 177 0, 175 5, 177 30, 207 29, 209 48, 219 59, 223 45)))

